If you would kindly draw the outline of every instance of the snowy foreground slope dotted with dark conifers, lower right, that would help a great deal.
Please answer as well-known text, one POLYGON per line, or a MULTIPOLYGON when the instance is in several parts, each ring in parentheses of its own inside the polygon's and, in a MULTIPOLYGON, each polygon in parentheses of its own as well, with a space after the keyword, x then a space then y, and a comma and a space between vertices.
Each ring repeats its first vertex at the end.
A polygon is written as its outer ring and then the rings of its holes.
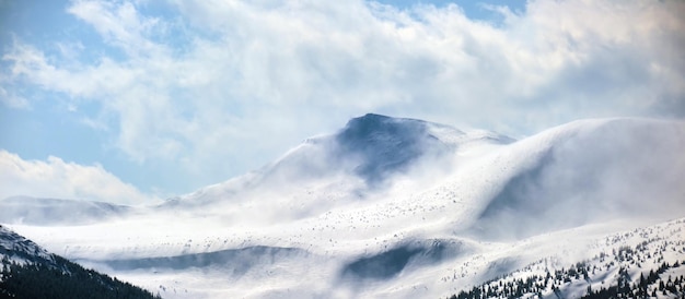
MULTIPOLYGON (((629 297, 678 298, 685 296, 683 228, 685 219, 678 219, 613 234, 587 246, 588 258, 577 262, 552 254, 456 295, 581 298, 595 292, 607 298, 612 295, 602 291, 617 288, 629 297)), ((456 279, 456 274, 444 278, 456 279)))

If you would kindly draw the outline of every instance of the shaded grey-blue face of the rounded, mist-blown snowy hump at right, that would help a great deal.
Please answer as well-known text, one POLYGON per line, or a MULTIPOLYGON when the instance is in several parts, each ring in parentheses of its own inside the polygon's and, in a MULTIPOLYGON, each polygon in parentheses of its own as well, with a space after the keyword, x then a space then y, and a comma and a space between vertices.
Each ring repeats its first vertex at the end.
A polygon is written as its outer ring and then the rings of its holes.
POLYGON ((682 122, 578 121, 509 151, 531 148, 537 155, 487 204, 475 235, 520 238, 615 218, 684 216, 682 122))

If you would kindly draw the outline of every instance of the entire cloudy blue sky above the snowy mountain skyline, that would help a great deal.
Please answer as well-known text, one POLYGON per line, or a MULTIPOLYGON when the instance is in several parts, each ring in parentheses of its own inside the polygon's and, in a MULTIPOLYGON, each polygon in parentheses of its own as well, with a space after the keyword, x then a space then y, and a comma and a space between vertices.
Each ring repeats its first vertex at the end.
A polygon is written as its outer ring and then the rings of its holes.
POLYGON ((141 203, 367 112, 685 118, 685 1, 0 0, 0 198, 141 203))

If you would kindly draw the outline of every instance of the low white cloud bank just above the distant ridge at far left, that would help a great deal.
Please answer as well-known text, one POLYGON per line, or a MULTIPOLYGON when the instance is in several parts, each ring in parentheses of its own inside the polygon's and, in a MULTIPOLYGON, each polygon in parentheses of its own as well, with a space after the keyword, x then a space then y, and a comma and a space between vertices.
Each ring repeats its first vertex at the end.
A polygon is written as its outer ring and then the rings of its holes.
POLYGON ((159 201, 123 182, 101 165, 83 166, 53 156, 47 160, 24 160, 0 151, 0 199, 14 195, 133 205, 159 201))

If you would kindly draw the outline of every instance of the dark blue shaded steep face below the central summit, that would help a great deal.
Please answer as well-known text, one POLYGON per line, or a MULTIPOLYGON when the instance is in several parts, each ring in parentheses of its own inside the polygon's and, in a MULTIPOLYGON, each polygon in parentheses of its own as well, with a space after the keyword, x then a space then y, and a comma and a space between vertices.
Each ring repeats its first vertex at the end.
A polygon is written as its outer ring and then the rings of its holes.
POLYGON ((437 156, 449 150, 429 132, 425 121, 369 113, 350 120, 335 135, 332 152, 351 163, 356 175, 374 184, 406 170, 422 156, 437 156))

